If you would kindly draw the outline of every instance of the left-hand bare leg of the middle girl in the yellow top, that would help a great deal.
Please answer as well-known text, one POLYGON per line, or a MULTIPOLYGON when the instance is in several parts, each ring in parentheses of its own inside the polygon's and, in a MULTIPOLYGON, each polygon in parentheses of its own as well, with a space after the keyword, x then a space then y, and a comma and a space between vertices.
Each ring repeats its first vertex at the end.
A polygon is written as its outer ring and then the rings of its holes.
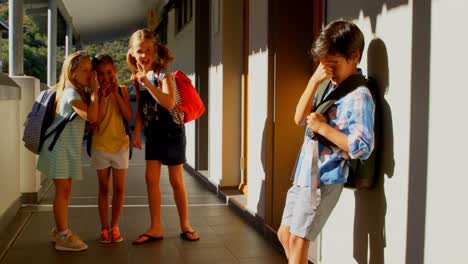
POLYGON ((109 228, 109 185, 110 185, 110 168, 97 170, 99 194, 98 207, 99 216, 101 218, 101 229, 109 228))

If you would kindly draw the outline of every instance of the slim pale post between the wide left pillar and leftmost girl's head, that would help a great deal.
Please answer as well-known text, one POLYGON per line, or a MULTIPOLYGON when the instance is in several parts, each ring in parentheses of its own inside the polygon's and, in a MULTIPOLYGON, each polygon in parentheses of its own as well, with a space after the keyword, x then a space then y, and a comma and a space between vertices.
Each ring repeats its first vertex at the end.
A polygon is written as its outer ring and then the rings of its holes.
POLYGON ((57 76, 57 2, 49 0, 47 10, 47 85, 56 83, 57 76))

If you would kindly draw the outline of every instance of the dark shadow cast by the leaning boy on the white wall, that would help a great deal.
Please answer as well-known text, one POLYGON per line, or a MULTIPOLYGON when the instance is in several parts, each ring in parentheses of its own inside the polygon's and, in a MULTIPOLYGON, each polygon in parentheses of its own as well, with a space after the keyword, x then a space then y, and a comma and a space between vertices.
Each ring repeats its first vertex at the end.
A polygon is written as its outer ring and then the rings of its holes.
POLYGON ((356 191, 354 214, 353 256, 359 264, 383 264, 385 241, 385 215, 387 201, 385 198, 385 175, 393 177, 395 160, 393 156, 392 112, 385 94, 389 87, 388 55, 385 43, 373 39, 368 48, 368 75, 377 82, 377 112, 381 120, 378 151, 379 171, 377 185, 372 190, 356 191))

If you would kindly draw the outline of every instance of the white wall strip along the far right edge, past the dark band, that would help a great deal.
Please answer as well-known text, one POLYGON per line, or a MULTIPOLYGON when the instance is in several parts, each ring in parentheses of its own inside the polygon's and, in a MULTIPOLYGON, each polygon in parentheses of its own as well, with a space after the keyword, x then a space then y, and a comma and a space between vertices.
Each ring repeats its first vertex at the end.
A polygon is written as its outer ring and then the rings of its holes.
POLYGON ((432 1, 425 263, 466 262, 467 7, 432 1))

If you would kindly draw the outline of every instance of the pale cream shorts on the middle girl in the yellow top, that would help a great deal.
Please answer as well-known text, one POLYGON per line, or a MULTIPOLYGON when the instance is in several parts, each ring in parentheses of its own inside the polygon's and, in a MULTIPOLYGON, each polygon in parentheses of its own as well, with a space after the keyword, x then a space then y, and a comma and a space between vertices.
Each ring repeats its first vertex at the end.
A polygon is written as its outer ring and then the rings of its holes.
POLYGON ((91 158, 93 165, 97 170, 103 170, 107 168, 113 169, 128 169, 128 155, 129 148, 124 147, 115 153, 108 153, 91 149, 91 158))

